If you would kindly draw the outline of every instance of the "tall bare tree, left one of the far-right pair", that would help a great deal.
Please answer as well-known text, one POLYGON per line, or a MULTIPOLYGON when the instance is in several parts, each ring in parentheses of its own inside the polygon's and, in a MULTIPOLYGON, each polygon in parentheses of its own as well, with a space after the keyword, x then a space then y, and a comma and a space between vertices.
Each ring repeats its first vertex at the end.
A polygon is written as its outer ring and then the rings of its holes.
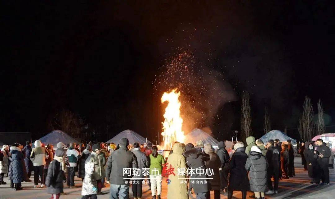
POLYGON ((311 98, 305 97, 304 112, 301 119, 302 122, 302 134, 304 141, 311 141, 314 137, 314 123, 313 123, 313 105, 311 98))

